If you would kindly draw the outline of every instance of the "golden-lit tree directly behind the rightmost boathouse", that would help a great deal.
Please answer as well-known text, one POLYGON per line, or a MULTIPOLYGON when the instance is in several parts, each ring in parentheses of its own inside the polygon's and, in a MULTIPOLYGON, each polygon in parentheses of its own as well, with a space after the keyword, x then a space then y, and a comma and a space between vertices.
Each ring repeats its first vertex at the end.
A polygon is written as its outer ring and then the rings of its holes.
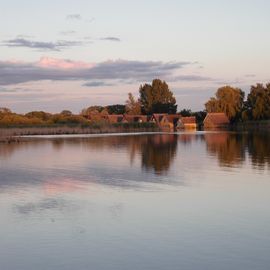
POLYGON ((224 86, 217 90, 216 97, 205 103, 207 112, 224 112, 230 120, 240 118, 245 93, 239 88, 224 86))

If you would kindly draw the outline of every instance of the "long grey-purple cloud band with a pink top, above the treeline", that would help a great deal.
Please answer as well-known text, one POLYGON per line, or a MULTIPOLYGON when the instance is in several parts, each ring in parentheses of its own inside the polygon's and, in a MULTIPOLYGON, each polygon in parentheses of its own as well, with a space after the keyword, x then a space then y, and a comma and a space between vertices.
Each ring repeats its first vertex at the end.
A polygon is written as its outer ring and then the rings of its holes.
POLYGON ((190 62, 116 60, 86 63, 54 58, 41 58, 35 63, 0 61, 0 85, 30 81, 99 81, 136 80, 149 82, 153 78, 171 77, 190 62))

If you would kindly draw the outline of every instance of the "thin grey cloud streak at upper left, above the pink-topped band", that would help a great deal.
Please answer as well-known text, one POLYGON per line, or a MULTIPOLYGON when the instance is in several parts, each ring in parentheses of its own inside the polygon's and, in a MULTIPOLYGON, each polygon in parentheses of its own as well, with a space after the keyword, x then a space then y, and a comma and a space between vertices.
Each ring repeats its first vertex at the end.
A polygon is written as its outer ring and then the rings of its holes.
POLYGON ((59 40, 56 42, 44 42, 44 41, 32 41, 24 38, 15 38, 5 41, 2 46, 61 51, 62 49, 67 49, 69 47, 79 45, 82 45, 82 43, 79 41, 59 40))

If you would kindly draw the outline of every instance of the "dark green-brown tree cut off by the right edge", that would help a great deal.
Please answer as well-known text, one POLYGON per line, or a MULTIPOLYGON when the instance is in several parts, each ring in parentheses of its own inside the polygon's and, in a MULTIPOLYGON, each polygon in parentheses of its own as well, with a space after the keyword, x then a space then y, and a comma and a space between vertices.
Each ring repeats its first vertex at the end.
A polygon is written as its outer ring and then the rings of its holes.
POLYGON ((244 120, 270 119, 270 83, 251 86, 242 117, 244 120))

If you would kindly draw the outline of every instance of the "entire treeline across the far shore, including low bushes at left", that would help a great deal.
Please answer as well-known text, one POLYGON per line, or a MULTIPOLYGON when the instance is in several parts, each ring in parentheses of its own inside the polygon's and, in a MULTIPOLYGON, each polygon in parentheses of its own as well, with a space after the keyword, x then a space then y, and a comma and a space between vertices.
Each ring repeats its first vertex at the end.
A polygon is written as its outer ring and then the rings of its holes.
MULTIPOLYGON (((268 120, 270 119, 270 83, 251 86, 246 99, 241 89, 224 86, 217 90, 215 97, 205 103, 205 110, 192 112, 190 109, 182 109, 178 113, 182 116, 195 116, 200 124, 207 112, 224 112, 231 122, 268 120)), ((73 114, 69 110, 56 114, 43 111, 17 114, 8 108, 0 108, 0 127, 61 125, 94 127, 108 124, 102 117, 106 114, 151 115, 153 113, 177 113, 173 92, 165 81, 159 79, 153 80, 151 84, 141 85, 138 98, 129 93, 125 104, 90 106, 83 109, 80 114, 73 114), (92 115, 91 119, 87 117, 89 114, 92 115)))

